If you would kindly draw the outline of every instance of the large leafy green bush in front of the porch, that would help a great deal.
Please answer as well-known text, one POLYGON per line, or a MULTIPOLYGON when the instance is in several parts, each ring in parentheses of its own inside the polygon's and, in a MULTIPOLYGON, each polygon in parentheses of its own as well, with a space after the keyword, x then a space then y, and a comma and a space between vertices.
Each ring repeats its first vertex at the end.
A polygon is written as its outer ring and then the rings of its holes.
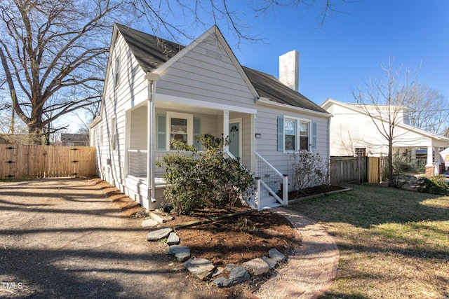
MULTIPOLYGON (((203 152, 173 141, 177 153, 163 157, 166 163, 164 194, 175 212, 190 214, 194 209, 234 207, 254 191, 254 177, 239 160, 227 158, 222 148, 227 139, 201 137, 203 152)), ((160 165, 159 165, 160 166, 160 165)))

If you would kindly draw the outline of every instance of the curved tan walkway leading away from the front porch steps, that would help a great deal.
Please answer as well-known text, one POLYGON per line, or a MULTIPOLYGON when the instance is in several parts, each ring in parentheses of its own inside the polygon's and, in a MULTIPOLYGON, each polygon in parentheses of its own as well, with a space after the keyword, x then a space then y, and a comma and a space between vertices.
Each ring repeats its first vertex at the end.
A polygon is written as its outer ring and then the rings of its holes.
POLYGON ((326 230, 306 216, 282 207, 272 211, 288 218, 302 235, 302 246, 288 257, 288 264, 255 292, 256 298, 317 298, 337 274, 337 245, 326 230))

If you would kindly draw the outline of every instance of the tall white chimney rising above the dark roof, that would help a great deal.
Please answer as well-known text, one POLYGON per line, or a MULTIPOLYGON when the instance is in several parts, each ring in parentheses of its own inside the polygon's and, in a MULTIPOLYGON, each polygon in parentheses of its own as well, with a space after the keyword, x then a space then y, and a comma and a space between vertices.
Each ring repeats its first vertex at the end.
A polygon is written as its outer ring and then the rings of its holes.
POLYGON ((300 90, 300 53, 297 50, 279 56, 279 81, 295 91, 300 90))

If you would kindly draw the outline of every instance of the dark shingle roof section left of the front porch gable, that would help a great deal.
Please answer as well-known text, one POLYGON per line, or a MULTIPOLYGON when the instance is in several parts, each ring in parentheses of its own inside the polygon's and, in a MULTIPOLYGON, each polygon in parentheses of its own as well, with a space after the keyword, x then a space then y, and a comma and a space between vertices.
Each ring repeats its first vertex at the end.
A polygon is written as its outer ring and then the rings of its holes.
POLYGON ((152 72, 184 48, 180 44, 116 24, 145 72, 152 72))

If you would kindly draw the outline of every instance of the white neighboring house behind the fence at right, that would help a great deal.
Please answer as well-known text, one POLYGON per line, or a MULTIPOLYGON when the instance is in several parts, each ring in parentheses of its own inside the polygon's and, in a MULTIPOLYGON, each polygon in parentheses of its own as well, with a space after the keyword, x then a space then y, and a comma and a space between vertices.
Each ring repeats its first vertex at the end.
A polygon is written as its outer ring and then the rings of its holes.
MULTIPOLYGON (((330 121, 330 155, 388 155, 387 139, 380 134, 373 119, 366 112, 370 109, 369 106, 361 109, 358 104, 326 99, 321 107, 333 115, 330 121)), ((401 115, 398 116, 400 123, 394 131, 393 153, 400 155, 410 164, 422 161, 422 166, 430 169, 433 167, 434 174, 440 173, 439 166, 444 161, 440 160, 438 153, 448 147, 449 138, 408 125, 409 111, 402 109, 398 112, 401 115), (424 157, 424 160, 420 159, 421 157, 424 157)), ((376 113, 372 115, 375 116, 376 113)), ((381 117, 375 118, 375 121, 377 126, 382 127, 381 117)), ((384 122, 383 125, 388 123, 384 122)))

